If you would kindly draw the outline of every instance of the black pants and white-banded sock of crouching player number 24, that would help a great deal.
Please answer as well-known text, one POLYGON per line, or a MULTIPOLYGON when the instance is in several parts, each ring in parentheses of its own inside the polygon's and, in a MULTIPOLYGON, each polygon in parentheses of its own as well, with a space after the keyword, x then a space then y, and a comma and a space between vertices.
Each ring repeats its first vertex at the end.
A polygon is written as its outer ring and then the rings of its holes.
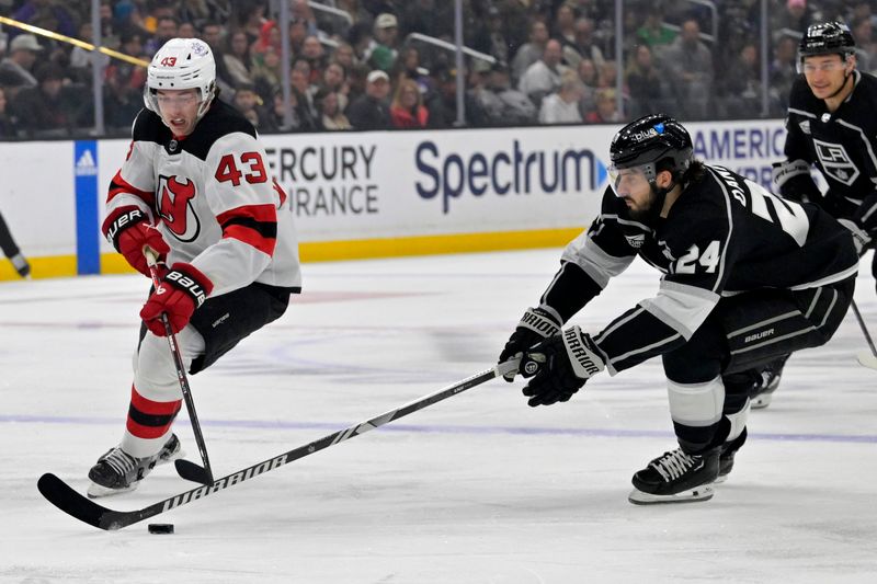
POLYGON ((683 449, 720 445, 740 412, 739 423, 745 424, 749 390, 764 366, 825 344, 854 289, 855 277, 850 277, 818 288, 753 290, 719 300, 687 343, 663 355, 673 427, 683 449))

